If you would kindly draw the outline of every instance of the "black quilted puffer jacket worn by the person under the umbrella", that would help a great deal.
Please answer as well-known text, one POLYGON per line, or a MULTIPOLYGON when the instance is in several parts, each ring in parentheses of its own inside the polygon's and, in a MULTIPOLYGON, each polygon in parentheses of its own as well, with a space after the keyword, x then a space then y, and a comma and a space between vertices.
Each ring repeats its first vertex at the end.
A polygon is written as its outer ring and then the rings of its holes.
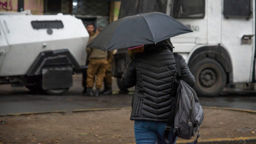
MULTIPOLYGON (((182 79, 191 87, 195 78, 180 56, 182 79)), ((154 44, 135 54, 121 79, 124 88, 135 86, 131 120, 168 121, 176 94, 177 67, 170 45, 154 44)))

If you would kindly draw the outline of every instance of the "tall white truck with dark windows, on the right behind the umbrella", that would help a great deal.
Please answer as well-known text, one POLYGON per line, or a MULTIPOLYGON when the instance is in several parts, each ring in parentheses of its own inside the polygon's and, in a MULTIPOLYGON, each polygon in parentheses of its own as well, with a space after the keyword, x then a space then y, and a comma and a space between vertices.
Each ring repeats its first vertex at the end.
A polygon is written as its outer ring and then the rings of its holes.
MULTIPOLYGON (((194 31, 172 37, 171 42, 195 76, 199 96, 218 96, 230 83, 256 82, 255 0, 152 0, 150 5, 135 1, 122 0, 119 18, 160 11, 194 31)), ((129 63, 127 50, 118 50, 115 59, 114 76, 123 89, 120 77, 129 63)))

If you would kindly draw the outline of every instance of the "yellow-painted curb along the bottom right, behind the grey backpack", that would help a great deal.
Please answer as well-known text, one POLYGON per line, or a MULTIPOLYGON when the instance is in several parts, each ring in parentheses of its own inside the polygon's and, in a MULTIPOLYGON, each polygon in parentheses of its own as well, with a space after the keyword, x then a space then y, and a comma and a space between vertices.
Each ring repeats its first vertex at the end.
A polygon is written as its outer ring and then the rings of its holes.
MULTIPOLYGON (((193 140, 177 140, 176 144, 186 144, 193 140)), ((240 137, 240 138, 216 138, 216 139, 201 139, 198 140, 198 144, 254 144, 256 137, 240 137)), ((136 144, 136 143, 127 143, 136 144)))

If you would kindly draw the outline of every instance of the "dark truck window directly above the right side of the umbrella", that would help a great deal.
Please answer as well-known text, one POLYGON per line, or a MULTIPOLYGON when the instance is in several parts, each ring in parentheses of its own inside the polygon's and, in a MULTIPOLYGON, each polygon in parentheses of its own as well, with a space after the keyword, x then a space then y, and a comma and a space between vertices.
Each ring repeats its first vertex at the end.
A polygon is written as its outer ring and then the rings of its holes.
POLYGON ((204 18, 205 0, 173 0, 171 16, 174 18, 204 18))

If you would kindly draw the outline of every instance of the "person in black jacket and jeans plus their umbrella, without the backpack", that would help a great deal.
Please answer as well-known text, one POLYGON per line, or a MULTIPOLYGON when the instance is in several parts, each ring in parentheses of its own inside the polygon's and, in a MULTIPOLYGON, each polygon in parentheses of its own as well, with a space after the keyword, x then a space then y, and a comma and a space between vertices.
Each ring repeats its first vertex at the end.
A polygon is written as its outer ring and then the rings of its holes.
MULTIPOLYGON (((114 21, 89 45, 107 51, 144 44, 144 52, 135 54, 121 79, 124 88, 135 86, 130 119, 135 120, 136 143, 166 143, 164 130, 177 88, 174 82, 177 67, 170 37, 188 32, 192 31, 174 18, 153 12, 114 21)), ((182 79, 193 87, 194 76, 183 57, 179 55, 179 58, 182 79)))

